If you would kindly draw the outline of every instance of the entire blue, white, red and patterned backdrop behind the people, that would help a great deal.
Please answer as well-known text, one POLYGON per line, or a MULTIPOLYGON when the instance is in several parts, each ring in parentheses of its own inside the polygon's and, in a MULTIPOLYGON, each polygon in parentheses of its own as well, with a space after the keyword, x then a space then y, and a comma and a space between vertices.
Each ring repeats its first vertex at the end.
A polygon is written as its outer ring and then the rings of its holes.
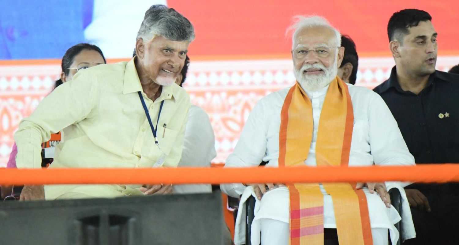
POLYGON ((184 87, 192 103, 210 116, 218 153, 214 162, 224 162, 231 153, 261 97, 294 83, 291 39, 285 29, 295 15, 324 16, 355 41, 360 57, 357 85, 372 88, 389 76, 394 62, 387 22, 405 8, 431 14, 439 40, 437 69, 459 63, 457 0, 4 2, 0 1, 0 167, 6 164, 19 121, 50 92, 65 50, 89 42, 99 46, 109 62, 128 59, 143 13, 152 4, 173 7, 195 27, 184 87))

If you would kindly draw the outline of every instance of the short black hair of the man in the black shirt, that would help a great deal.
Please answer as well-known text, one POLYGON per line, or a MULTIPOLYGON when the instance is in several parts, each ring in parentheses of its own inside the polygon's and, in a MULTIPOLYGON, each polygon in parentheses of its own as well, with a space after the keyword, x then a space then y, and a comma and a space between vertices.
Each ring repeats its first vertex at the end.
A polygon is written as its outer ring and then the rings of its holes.
POLYGON ((389 42, 397 39, 403 42, 403 36, 409 34, 408 28, 418 26, 421 21, 431 21, 431 15, 419 9, 404 9, 395 12, 387 24, 389 42))

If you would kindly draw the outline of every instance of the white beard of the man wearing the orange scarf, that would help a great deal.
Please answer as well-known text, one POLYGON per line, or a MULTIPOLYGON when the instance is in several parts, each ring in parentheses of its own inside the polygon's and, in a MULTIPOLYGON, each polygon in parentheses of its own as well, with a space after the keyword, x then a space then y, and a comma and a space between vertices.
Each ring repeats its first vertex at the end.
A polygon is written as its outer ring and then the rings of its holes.
POLYGON ((329 85, 330 82, 335 79, 338 74, 338 58, 335 57, 335 61, 330 68, 325 68, 324 65, 316 64, 304 64, 300 70, 295 69, 295 78, 298 83, 301 85, 305 91, 319 91, 324 88, 326 85, 329 85), (306 75, 304 71, 306 69, 316 68, 322 69, 325 74, 319 75, 306 75))

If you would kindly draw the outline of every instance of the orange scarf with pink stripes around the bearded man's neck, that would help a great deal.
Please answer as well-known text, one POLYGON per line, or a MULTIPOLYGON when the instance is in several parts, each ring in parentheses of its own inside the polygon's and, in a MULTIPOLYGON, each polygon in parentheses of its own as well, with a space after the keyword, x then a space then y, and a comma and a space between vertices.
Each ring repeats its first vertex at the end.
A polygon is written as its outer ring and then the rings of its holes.
MULTIPOLYGON (((296 83, 280 113, 279 166, 304 165, 313 135, 311 101, 296 83)), ((319 120, 317 166, 347 166, 353 131, 353 108, 347 85, 336 77, 328 88, 319 120)), ((340 245, 372 245, 367 200, 356 183, 323 183, 333 199, 340 245)), ((324 244, 324 196, 319 184, 289 184, 290 245, 324 244)))

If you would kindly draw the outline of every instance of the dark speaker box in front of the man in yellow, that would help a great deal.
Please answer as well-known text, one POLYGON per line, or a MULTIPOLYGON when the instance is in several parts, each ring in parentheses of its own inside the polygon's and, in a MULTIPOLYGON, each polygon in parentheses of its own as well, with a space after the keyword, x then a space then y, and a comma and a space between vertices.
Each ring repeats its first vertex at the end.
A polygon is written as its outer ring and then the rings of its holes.
POLYGON ((0 202, 1 245, 221 245, 220 192, 0 202))

